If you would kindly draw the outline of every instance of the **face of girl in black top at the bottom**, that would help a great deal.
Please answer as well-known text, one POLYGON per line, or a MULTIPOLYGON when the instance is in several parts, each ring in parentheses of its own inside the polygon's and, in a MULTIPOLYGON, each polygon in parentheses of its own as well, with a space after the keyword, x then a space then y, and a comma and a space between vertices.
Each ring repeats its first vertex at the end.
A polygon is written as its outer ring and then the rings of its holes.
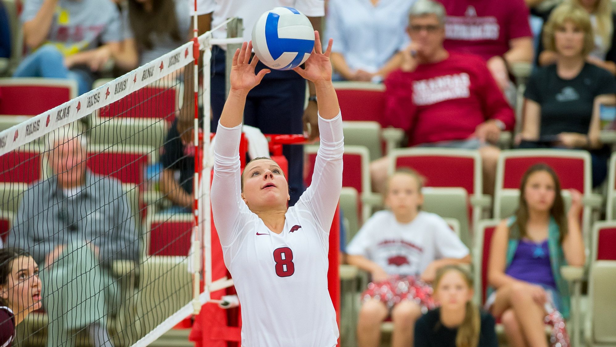
POLYGON ((447 271, 441 277, 435 292, 441 308, 448 311, 464 308, 464 305, 472 300, 473 295, 472 288, 458 271, 447 271))

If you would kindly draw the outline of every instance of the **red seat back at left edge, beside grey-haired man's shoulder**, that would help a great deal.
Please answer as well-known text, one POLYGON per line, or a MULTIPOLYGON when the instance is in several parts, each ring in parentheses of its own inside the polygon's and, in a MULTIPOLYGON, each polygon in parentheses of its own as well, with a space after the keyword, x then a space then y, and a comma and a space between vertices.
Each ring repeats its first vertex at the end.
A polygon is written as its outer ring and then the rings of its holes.
POLYGON ((32 183, 41 179, 39 152, 15 150, 0 160, 0 182, 32 183))

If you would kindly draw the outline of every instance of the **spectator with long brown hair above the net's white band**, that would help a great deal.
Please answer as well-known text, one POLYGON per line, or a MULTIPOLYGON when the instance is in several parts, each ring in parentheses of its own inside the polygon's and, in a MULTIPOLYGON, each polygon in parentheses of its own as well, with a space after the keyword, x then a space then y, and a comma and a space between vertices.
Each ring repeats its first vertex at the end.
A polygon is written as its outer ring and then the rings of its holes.
POLYGON ((189 0, 129 0, 129 21, 139 65, 173 51, 192 31, 189 0))

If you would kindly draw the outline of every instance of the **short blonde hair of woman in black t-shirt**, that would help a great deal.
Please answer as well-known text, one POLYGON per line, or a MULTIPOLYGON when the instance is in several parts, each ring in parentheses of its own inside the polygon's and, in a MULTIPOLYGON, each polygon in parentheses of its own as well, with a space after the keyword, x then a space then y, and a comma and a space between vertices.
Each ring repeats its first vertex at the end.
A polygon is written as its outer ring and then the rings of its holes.
POLYGON ((554 33, 564 26, 565 22, 572 22, 584 31, 582 55, 586 57, 594 49, 593 25, 590 22, 588 12, 583 7, 575 4, 564 3, 552 11, 548 22, 543 27, 543 45, 548 51, 557 52, 554 33))

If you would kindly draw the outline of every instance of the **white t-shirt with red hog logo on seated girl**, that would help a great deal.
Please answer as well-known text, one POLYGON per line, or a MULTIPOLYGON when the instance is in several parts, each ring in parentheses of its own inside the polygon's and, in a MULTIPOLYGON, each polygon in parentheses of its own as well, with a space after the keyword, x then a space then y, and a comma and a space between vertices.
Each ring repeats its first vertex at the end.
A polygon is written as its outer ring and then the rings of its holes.
POLYGON ((413 221, 400 223, 391 211, 378 211, 347 253, 365 256, 390 275, 419 276, 432 261, 464 258, 469 251, 438 214, 420 211, 413 221))

